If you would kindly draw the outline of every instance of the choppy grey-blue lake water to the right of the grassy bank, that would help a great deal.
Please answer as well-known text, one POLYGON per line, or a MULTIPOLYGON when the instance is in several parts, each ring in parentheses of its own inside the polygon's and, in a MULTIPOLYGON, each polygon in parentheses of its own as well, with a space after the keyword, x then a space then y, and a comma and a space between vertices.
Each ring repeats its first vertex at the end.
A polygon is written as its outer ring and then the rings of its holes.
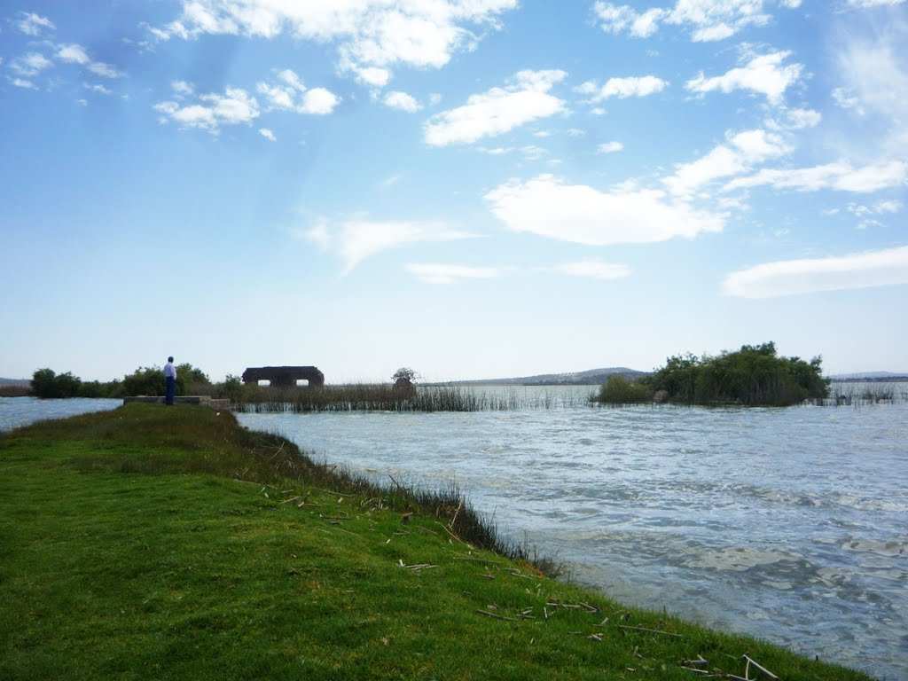
POLYGON ((908 678, 908 403, 240 419, 386 483, 454 479, 626 603, 908 678))

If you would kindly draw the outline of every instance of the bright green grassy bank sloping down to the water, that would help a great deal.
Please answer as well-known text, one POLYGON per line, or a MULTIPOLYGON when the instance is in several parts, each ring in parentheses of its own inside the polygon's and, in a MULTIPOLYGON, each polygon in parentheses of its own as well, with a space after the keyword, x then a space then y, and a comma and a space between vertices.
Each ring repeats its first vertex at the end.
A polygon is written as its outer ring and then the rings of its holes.
POLYGON ((479 548, 454 498, 363 487, 193 407, 15 430, 0 678, 770 678, 745 655, 867 678, 542 577, 479 548))

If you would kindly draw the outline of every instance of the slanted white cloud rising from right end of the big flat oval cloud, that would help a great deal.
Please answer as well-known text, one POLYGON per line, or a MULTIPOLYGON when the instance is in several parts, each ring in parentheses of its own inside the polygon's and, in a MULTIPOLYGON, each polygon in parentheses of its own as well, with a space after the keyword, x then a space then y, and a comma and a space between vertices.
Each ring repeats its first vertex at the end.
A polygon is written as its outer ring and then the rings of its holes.
POLYGON ((748 172, 757 163, 791 151, 781 135, 765 130, 726 134, 727 142, 714 147, 692 163, 679 163, 676 172, 663 180, 679 197, 691 198, 698 190, 719 178, 748 172))

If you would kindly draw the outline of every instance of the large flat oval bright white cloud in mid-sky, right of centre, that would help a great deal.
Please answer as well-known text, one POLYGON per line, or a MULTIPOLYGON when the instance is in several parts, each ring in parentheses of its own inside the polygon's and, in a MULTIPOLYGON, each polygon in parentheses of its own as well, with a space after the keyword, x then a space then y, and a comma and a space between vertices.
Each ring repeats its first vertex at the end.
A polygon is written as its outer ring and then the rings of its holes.
POLYGON ((566 242, 607 246, 664 242, 721 232, 725 216, 666 199, 658 190, 601 192, 568 185, 551 175, 511 181, 485 195, 489 209, 514 232, 566 242))

